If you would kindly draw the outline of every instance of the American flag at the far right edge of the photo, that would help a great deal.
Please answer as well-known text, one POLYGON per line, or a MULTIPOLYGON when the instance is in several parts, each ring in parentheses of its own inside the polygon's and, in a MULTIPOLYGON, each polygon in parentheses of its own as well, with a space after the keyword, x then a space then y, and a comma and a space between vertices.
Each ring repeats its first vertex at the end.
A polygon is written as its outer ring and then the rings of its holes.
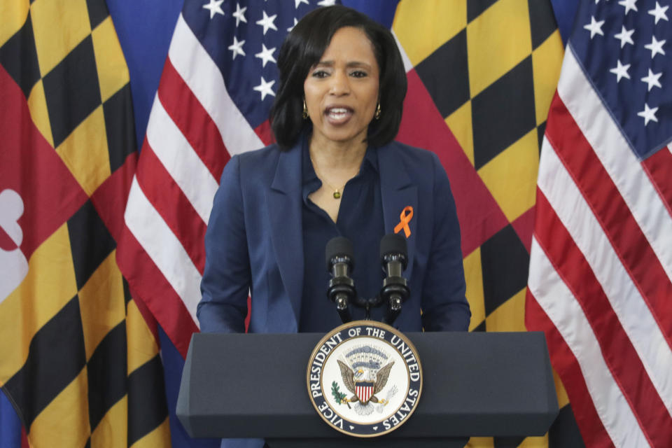
POLYGON ((580 4, 542 145, 526 325, 589 447, 672 447, 669 3, 580 4))

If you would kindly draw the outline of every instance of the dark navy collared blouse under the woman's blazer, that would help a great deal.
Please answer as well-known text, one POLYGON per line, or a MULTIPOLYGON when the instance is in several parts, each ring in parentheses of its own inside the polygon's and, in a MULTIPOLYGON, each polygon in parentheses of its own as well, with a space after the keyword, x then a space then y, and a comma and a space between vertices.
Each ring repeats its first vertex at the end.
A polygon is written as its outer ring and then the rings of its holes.
MULTIPOLYGON (((354 267, 351 278, 357 295, 374 297, 382 286, 384 272, 379 246, 385 226, 378 155, 376 148, 367 149, 359 173, 343 189, 334 223, 323 209, 308 198, 322 186, 322 182, 315 174, 307 145, 303 145, 302 151, 303 253, 306 261, 299 331, 326 332, 342 323, 335 304, 326 295, 330 274, 326 269, 324 251, 330 239, 342 236, 352 241, 354 267)), ((373 309, 371 318, 380 321, 384 311, 384 306, 373 309)), ((354 320, 364 318, 362 308, 351 305, 350 312, 354 320)))

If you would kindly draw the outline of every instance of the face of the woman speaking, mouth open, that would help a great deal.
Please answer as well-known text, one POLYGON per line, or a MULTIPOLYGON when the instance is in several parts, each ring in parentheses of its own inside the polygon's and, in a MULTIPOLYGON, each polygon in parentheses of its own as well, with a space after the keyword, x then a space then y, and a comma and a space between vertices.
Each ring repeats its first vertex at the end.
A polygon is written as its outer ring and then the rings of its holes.
POLYGON ((379 67, 364 31, 335 32, 303 83, 313 140, 360 144, 378 104, 379 67))

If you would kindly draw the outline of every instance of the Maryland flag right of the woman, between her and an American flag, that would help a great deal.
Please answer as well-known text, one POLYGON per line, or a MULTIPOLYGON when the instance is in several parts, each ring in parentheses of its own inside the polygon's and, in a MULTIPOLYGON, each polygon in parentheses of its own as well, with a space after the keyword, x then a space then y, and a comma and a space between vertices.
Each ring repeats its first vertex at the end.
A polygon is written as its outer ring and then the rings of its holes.
MULTIPOLYGON (((433 111, 416 108, 414 124, 430 134, 416 146, 437 152, 451 179, 470 330, 525 331, 539 152, 563 57, 551 4, 402 0, 393 31, 411 66, 409 96, 433 102, 433 111)), ((581 447, 557 376, 556 390, 560 416, 544 437, 472 437, 468 447, 581 447)))

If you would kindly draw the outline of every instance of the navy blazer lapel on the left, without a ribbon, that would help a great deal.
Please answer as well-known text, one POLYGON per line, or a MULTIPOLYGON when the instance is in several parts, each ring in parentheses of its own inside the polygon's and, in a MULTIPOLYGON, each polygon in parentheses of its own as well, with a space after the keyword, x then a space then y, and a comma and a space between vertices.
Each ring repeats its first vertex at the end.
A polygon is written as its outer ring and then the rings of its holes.
POLYGON ((297 330, 303 293, 303 236, 301 211, 301 141, 278 158, 267 193, 273 249, 280 276, 289 295, 297 330))

